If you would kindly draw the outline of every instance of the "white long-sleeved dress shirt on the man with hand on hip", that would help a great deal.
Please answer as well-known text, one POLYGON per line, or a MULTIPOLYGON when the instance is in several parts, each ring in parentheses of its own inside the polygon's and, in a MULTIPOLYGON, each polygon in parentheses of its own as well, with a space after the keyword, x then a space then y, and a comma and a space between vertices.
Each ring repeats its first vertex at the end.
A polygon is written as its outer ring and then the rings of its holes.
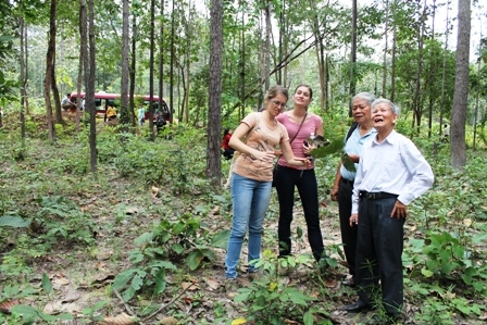
POLYGON ((353 184, 352 213, 359 211, 359 192, 388 192, 408 205, 428 190, 434 180, 432 167, 416 146, 396 130, 382 142, 374 137, 363 145, 353 184))

